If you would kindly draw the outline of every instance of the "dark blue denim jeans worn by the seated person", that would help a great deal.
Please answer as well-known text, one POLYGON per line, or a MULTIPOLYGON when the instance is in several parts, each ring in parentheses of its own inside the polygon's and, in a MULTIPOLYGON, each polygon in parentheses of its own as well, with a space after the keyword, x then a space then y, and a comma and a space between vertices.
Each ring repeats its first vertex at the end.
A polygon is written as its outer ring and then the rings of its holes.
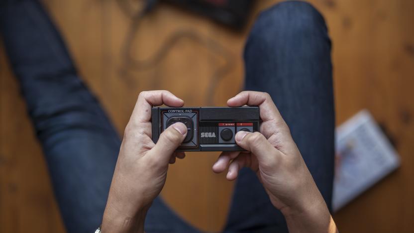
MULTIPOLYGON (((6 0, 0 32, 47 160, 68 232, 100 226, 120 138, 82 82, 41 4, 6 0)), ((268 92, 328 207, 334 158, 330 40, 308 3, 279 3, 260 14, 246 43, 245 89, 268 92)), ((146 232, 197 232, 158 197, 146 232)), ((224 232, 287 232, 284 217, 249 169, 237 179, 224 232)))

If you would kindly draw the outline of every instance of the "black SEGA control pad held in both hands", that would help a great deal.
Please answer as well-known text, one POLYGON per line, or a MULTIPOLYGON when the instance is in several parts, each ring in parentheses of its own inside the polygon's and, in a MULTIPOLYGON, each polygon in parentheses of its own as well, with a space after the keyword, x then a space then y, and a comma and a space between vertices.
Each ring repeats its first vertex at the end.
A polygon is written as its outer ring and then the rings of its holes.
POLYGON ((152 108, 152 140, 168 126, 182 122, 187 136, 177 151, 241 151, 234 141, 238 131, 259 130, 258 107, 152 108))

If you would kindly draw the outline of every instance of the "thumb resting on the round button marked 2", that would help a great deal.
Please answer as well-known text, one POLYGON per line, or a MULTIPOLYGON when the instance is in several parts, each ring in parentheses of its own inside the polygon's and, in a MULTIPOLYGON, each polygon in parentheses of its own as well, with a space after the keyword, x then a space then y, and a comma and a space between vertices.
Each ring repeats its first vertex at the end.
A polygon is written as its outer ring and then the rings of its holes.
POLYGON ((239 131, 235 140, 237 145, 256 155, 260 166, 274 167, 281 156, 281 152, 260 132, 239 131))

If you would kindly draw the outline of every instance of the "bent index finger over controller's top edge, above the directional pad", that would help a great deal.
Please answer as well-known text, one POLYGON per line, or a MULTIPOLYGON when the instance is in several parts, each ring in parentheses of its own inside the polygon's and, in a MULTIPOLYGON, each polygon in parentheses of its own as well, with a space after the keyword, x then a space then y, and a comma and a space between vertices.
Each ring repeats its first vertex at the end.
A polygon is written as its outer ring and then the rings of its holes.
POLYGON ((145 91, 139 93, 138 100, 132 112, 130 121, 134 123, 149 122, 152 106, 167 105, 170 107, 182 107, 184 101, 169 91, 145 91))

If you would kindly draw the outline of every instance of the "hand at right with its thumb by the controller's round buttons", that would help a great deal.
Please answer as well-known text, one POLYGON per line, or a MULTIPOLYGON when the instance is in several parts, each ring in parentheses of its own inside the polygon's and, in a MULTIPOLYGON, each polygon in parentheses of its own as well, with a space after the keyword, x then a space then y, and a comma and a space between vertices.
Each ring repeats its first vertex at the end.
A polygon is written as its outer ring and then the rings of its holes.
POLYGON ((220 173, 228 168, 226 178, 234 180, 241 168, 250 167, 271 203, 285 216, 290 232, 333 231, 334 223, 322 195, 270 95, 245 91, 229 99, 227 105, 259 106, 263 122, 260 132, 237 132, 236 143, 247 151, 222 152, 213 171, 220 173))

